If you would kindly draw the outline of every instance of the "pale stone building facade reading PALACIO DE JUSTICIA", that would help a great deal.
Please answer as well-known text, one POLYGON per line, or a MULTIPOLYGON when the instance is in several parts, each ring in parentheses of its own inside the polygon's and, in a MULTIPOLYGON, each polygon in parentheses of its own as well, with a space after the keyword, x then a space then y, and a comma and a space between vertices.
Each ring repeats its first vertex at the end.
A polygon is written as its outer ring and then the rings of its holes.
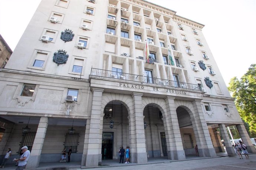
POLYGON ((186 159, 195 145, 214 157, 219 133, 234 154, 229 125, 255 152, 203 27, 143 0, 42 0, 0 70, 0 152, 27 145, 27 168, 69 147, 82 166, 118 159, 120 146, 133 163, 186 159))

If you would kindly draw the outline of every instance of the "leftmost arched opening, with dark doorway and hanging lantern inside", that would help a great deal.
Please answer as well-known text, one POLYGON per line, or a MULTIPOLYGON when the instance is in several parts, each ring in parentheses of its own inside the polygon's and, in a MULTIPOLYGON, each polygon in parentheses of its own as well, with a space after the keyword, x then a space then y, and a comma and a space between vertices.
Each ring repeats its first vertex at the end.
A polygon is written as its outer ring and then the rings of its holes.
POLYGON ((119 147, 129 144, 128 110, 121 101, 111 101, 104 108, 102 160, 119 159, 119 147))

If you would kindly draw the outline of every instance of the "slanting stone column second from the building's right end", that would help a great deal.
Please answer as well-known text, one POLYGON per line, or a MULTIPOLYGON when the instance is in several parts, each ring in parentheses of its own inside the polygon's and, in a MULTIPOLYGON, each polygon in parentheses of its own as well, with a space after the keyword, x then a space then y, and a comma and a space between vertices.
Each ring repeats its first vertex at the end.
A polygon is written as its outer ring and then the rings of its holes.
POLYGON ((226 151, 228 155, 235 155, 234 147, 232 146, 232 143, 230 142, 229 135, 227 134, 227 129, 225 124, 219 124, 220 128, 220 134, 222 139, 224 140, 226 151))

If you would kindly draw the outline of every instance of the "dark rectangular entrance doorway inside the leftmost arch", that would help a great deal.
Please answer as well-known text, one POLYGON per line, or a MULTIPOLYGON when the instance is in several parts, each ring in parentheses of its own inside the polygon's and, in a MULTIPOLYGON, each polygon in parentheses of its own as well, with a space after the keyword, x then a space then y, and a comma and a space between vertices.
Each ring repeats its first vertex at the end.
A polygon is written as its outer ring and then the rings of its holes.
POLYGON ((101 154, 102 160, 113 159, 113 138, 114 132, 102 133, 101 154))

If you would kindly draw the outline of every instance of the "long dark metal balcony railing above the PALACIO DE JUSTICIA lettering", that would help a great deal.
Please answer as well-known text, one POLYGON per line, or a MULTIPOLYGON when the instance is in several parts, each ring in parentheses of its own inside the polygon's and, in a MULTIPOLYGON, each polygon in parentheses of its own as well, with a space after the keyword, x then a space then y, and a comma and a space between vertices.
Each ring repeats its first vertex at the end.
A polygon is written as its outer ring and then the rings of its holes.
POLYGON ((109 70, 96 69, 96 68, 91 69, 91 74, 89 77, 91 77, 91 76, 121 79, 121 80, 126 80, 126 81, 139 82, 141 84, 142 83, 143 84, 157 84, 157 85, 163 85, 163 86, 174 87, 174 88, 183 88, 183 89, 190 89, 190 90, 196 90, 196 91, 203 91, 201 86, 199 86, 197 84, 171 81, 171 80, 166 80, 166 79, 153 78, 153 77, 149 77, 149 76, 127 74, 127 73, 123 73, 123 72, 109 71, 109 70))

